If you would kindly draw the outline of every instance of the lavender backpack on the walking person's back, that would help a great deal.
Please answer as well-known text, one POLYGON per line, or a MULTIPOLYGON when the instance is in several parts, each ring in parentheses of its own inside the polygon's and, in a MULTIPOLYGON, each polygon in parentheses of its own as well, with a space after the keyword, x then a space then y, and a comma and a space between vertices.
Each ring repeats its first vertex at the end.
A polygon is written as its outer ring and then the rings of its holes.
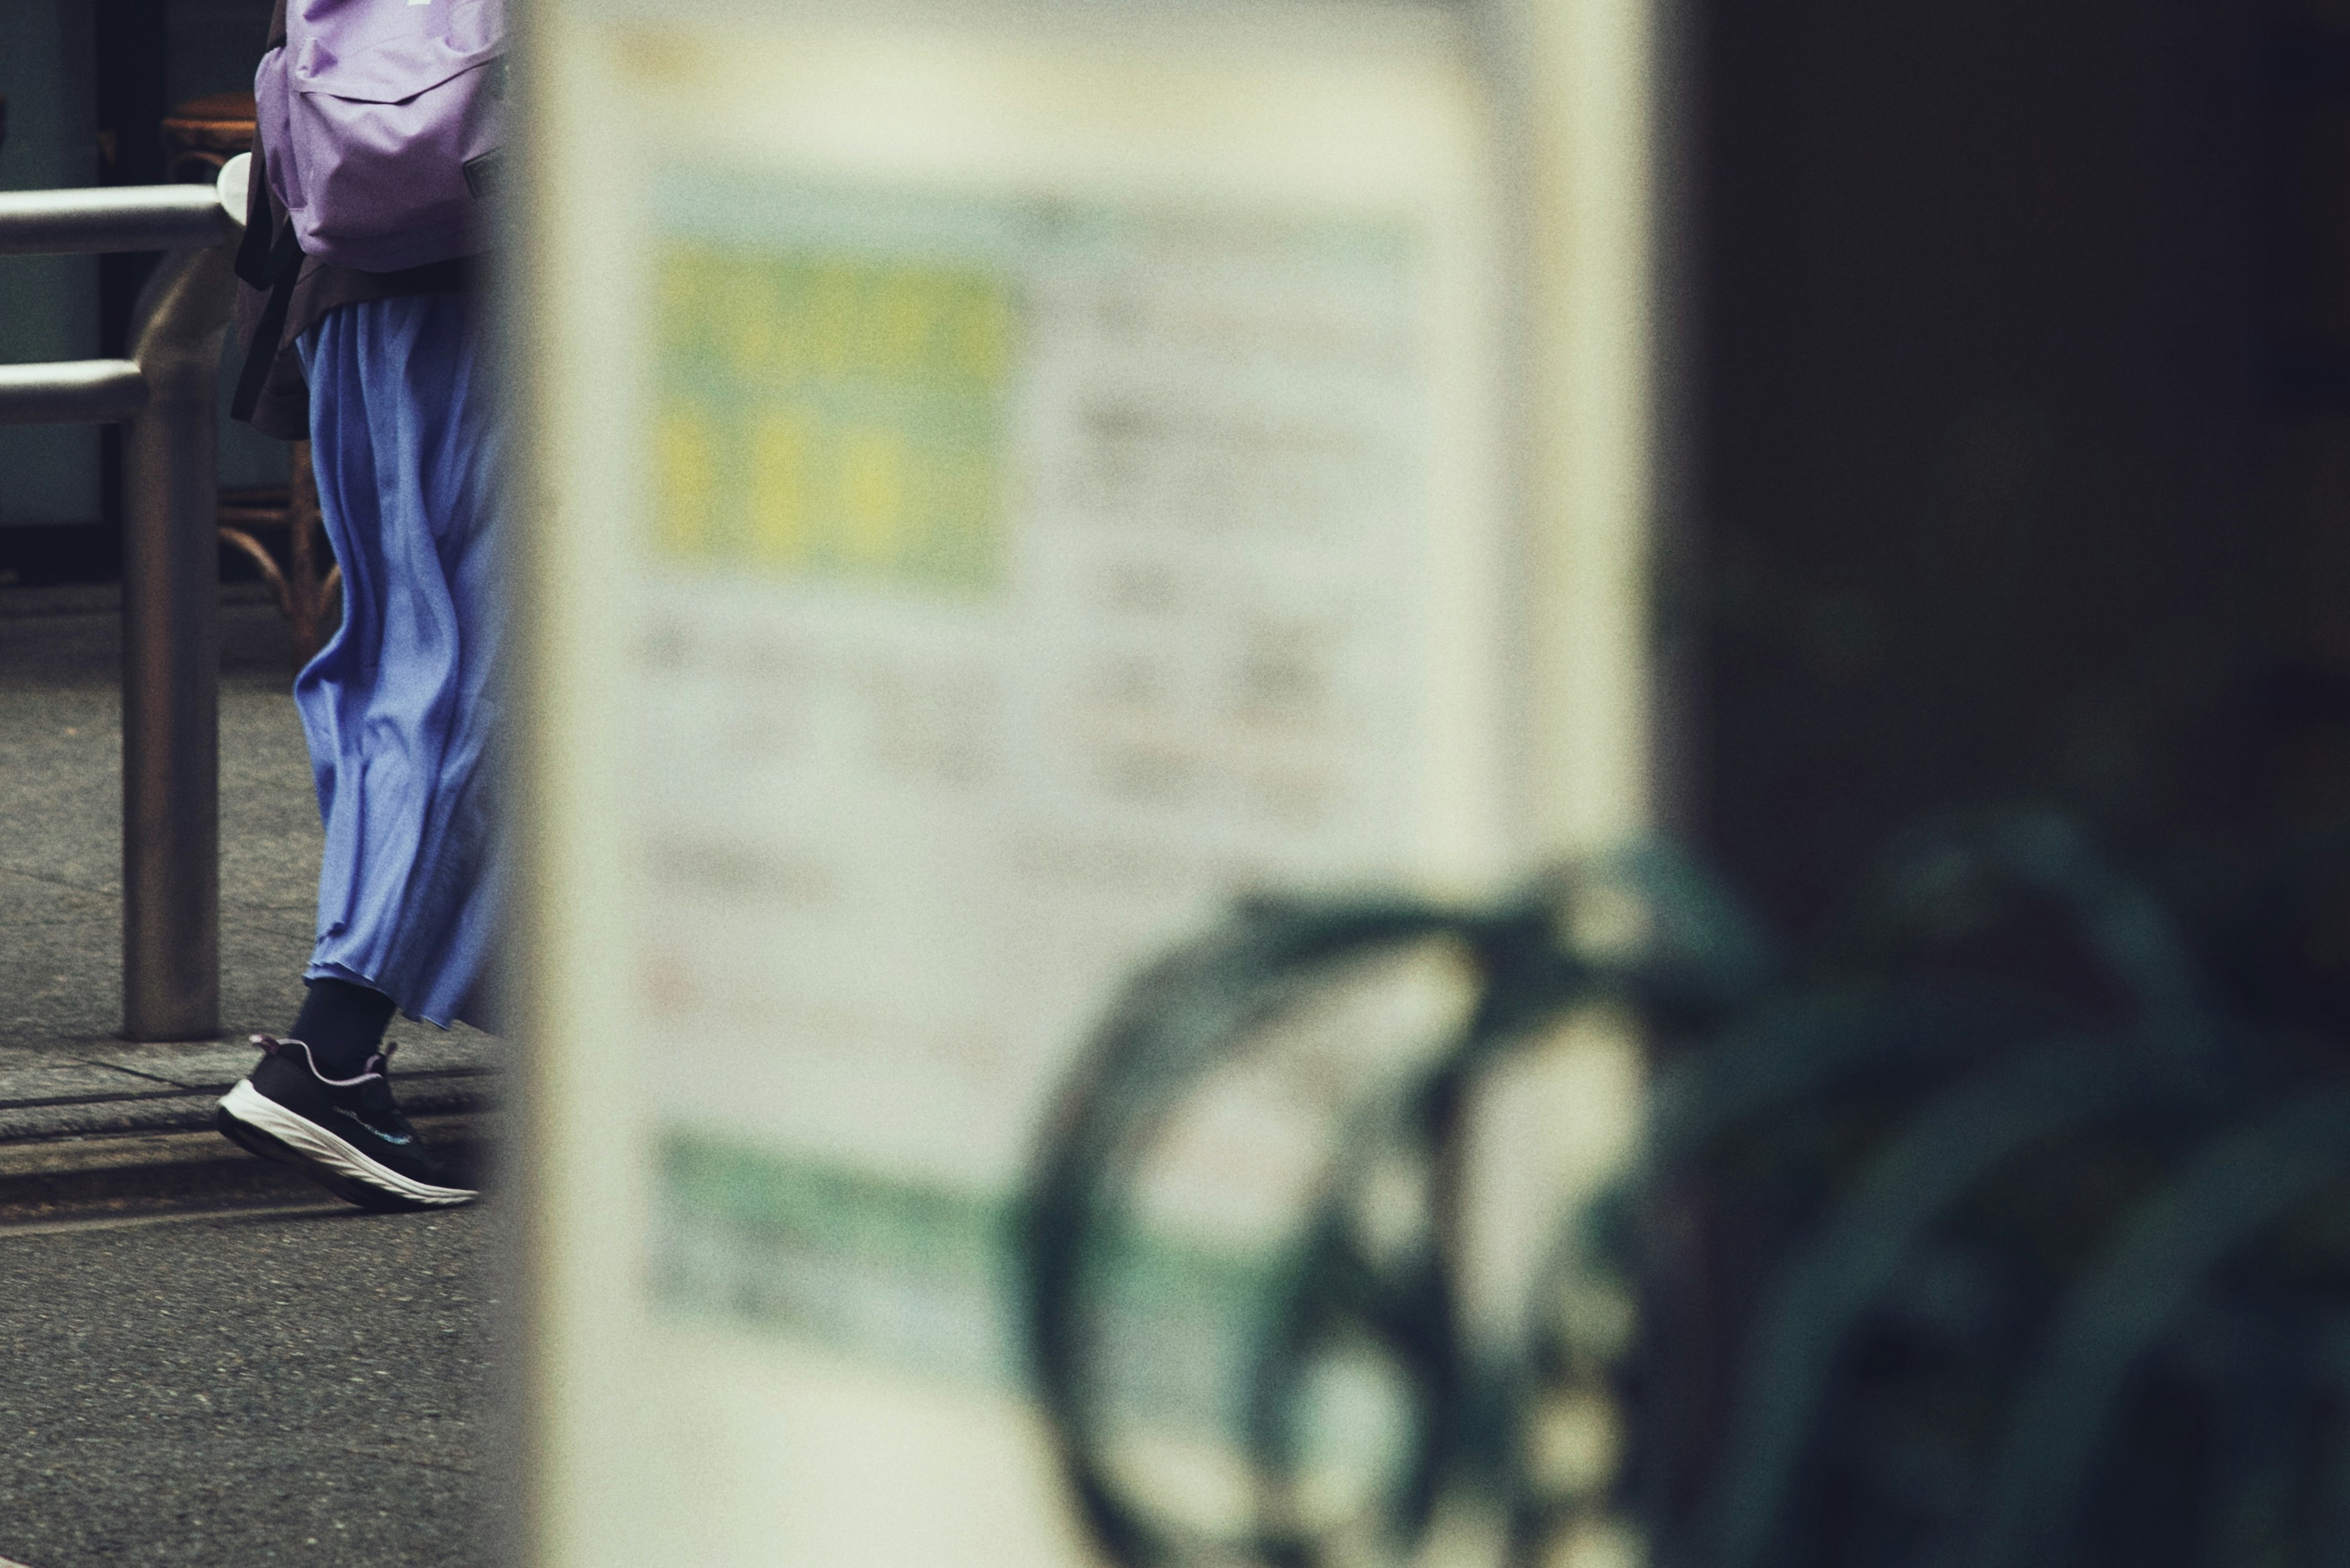
POLYGON ((482 249, 505 141, 501 0, 287 0, 254 99, 303 254, 395 273, 482 249))

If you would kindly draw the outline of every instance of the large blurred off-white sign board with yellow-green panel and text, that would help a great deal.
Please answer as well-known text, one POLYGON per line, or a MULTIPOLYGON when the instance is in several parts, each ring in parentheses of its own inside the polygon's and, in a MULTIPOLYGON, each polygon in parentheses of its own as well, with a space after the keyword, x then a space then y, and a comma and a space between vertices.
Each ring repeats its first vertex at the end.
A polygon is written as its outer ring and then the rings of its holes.
POLYGON ((1528 853, 1457 14, 844 16, 536 7, 566 1568, 1090 1561, 1003 1248, 1088 1025, 1236 891, 1528 853))

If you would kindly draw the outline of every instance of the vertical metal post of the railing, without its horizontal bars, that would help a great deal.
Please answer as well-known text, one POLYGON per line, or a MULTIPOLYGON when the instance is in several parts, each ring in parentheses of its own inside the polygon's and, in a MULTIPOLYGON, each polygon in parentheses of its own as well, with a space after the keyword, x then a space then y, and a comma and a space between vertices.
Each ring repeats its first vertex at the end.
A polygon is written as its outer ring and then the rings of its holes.
POLYGON ((122 433, 122 1032, 221 1030, 216 386, 230 247, 169 252, 139 296, 148 400, 122 433))

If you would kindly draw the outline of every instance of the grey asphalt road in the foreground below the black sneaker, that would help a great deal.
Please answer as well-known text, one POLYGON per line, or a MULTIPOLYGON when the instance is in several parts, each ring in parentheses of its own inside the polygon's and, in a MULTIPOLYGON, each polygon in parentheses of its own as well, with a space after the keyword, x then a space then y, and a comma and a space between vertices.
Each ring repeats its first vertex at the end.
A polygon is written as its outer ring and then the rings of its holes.
POLYGON ((0 1232, 0 1559, 496 1561, 494 1220, 0 1232))

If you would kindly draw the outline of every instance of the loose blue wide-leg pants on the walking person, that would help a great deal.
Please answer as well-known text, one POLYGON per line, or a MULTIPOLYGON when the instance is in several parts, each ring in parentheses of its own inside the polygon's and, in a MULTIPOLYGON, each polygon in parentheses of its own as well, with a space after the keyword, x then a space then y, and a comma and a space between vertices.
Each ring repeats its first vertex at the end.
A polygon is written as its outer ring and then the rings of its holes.
POLYGON ((294 679, 327 858, 308 978, 446 1027, 489 1018, 501 421, 479 306, 341 306, 298 341, 343 628, 294 679))

